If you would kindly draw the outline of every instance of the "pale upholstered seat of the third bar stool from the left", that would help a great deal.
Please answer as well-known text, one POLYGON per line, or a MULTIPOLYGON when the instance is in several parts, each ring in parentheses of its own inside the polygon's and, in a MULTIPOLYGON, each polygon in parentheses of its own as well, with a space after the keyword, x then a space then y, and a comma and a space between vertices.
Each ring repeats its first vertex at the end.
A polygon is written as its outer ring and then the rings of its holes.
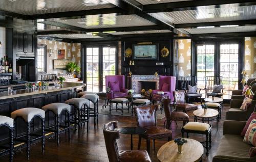
POLYGON ((60 115, 60 113, 63 110, 67 110, 68 112, 70 112, 71 106, 66 103, 50 103, 45 106, 42 106, 42 110, 44 110, 44 111, 51 110, 51 111, 53 111, 54 114, 60 115))

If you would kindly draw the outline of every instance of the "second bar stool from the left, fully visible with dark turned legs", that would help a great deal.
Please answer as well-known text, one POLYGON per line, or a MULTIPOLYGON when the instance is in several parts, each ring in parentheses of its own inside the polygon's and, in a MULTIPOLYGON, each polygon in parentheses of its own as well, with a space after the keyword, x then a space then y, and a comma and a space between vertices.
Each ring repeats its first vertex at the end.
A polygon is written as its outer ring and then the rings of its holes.
POLYGON ((14 133, 15 141, 21 141, 27 144, 27 159, 29 159, 30 154, 30 142, 35 140, 41 139, 42 153, 45 153, 45 111, 34 107, 27 107, 12 112, 11 118, 14 119, 14 125, 16 125, 18 118, 22 118, 27 124, 27 133, 25 135, 17 136, 17 132, 14 133), (32 120, 35 117, 41 119, 41 134, 30 133, 30 124, 33 123, 32 120), (32 139, 31 136, 36 138, 32 139), (26 140, 21 139, 24 137, 26 137, 26 140))

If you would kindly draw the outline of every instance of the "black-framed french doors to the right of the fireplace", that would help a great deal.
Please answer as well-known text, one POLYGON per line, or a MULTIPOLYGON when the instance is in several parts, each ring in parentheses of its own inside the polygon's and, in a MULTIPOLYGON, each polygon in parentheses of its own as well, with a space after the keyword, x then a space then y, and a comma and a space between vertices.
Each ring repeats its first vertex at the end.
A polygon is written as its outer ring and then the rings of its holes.
MULTIPOLYGON (((230 99, 232 90, 241 87, 243 67, 242 43, 214 41, 196 44, 198 88, 204 88, 204 76, 222 76, 223 98, 230 99)), ((201 91, 205 94, 205 91, 201 91)))

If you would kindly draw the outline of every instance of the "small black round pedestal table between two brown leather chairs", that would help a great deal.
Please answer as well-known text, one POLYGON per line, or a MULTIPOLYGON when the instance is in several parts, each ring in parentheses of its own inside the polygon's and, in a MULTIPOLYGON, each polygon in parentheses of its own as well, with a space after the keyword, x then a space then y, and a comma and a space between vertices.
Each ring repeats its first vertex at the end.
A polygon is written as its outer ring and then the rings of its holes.
POLYGON ((145 128, 142 127, 122 127, 117 128, 122 134, 131 134, 131 150, 133 150, 133 134, 140 134, 146 132, 145 128))

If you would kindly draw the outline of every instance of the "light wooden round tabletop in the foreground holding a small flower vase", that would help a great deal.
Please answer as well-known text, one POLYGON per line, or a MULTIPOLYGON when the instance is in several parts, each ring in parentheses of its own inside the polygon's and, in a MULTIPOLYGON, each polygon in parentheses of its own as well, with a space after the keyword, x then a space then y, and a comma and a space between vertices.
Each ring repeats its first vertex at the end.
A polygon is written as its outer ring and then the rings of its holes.
POLYGON ((194 162, 200 161, 204 153, 203 145, 193 139, 186 139, 182 146, 182 153, 178 153, 178 146, 173 141, 165 143, 157 152, 157 158, 162 162, 194 162))

